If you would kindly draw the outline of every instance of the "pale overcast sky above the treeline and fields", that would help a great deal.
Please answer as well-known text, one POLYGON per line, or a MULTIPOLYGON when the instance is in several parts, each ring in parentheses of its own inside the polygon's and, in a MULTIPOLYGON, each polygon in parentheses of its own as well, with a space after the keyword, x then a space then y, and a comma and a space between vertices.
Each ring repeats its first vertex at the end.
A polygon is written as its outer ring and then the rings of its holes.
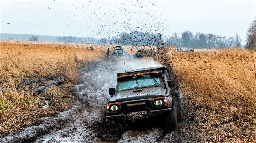
POLYGON ((112 38, 121 32, 185 30, 245 40, 256 2, 181 0, 3 1, 0 33, 112 38))

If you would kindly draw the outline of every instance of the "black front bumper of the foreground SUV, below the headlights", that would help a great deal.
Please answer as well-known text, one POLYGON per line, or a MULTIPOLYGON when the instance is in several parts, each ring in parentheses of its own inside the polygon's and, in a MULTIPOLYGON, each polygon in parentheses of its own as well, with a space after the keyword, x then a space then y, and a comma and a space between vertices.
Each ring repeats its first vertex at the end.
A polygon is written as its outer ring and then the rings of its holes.
MULTIPOLYGON (((153 111, 150 111, 147 114, 143 114, 143 116, 140 117, 140 118, 136 117, 136 119, 144 119, 144 118, 149 118, 149 117, 152 117, 152 116, 157 116, 157 114, 161 114, 161 113, 164 113, 164 112, 169 111, 169 110, 172 110, 172 107, 166 108, 166 109, 161 109, 161 110, 153 110, 153 111)), ((126 116, 124 114, 112 115, 112 116, 106 116, 106 117, 108 119, 117 119, 117 120, 131 120, 131 119, 133 119, 132 116, 126 116)))

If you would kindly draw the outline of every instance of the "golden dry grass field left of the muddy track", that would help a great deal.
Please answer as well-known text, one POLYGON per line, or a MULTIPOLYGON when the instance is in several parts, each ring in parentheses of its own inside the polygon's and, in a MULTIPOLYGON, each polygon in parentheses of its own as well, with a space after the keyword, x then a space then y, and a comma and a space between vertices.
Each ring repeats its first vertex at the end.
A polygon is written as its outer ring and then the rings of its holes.
MULTIPOLYGON (((37 125, 39 118, 53 115, 59 107, 42 108, 44 99, 29 94, 29 89, 20 83, 56 74, 63 75, 67 83, 79 83, 78 68, 99 61, 105 53, 102 47, 93 45, 94 50, 86 50, 87 46, 92 45, 0 42, 0 137, 21 127, 37 125)), ((53 103, 63 97, 65 100, 59 100, 63 104, 61 109, 74 100, 58 87, 47 89, 48 96, 53 103)))

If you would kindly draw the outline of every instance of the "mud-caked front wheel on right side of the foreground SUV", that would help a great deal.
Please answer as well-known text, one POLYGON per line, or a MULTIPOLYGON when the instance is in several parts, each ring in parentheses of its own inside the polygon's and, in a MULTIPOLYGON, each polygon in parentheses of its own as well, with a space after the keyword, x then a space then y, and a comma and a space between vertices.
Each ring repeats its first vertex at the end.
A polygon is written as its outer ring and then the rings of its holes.
POLYGON ((178 121, 177 121, 177 114, 175 106, 172 106, 172 110, 164 113, 164 124, 163 124, 163 131, 165 133, 171 133, 172 130, 178 129, 178 121))

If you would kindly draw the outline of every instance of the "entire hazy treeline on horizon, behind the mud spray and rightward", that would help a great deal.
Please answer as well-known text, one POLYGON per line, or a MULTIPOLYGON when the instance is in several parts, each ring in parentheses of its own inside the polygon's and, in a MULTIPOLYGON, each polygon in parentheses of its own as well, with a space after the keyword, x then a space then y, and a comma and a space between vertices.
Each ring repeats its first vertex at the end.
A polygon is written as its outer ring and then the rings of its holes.
POLYGON ((176 45, 177 47, 187 48, 230 48, 241 47, 242 39, 238 34, 234 37, 219 36, 214 34, 193 33, 191 31, 184 31, 181 34, 173 33, 167 39, 163 38, 160 33, 143 33, 140 31, 131 31, 130 33, 120 33, 119 37, 112 39, 99 39, 99 43, 115 43, 121 45, 176 45))

